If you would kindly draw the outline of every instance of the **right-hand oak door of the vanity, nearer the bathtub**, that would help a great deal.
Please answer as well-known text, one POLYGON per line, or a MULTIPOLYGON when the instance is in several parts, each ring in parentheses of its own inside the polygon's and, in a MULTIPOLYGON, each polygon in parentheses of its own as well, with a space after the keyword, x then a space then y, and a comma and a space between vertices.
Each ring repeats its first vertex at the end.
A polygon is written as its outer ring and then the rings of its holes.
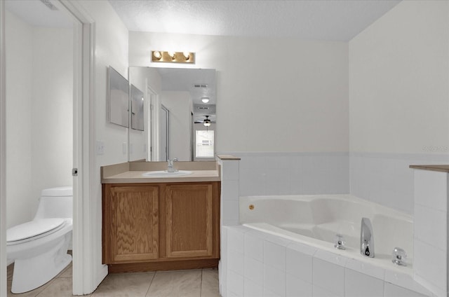
POLYGON ((166 186, 166 256, 213 256, 212 184, 166 186))

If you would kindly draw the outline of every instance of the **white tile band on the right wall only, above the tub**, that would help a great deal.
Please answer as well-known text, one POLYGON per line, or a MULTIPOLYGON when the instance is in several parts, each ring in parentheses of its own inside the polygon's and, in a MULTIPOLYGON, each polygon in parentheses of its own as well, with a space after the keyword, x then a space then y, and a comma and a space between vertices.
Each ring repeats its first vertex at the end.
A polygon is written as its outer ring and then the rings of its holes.
POLYGON ((413 214, 413 170, 408 166, 447 163, 448 154, 351 152, 350 193, 413 214))

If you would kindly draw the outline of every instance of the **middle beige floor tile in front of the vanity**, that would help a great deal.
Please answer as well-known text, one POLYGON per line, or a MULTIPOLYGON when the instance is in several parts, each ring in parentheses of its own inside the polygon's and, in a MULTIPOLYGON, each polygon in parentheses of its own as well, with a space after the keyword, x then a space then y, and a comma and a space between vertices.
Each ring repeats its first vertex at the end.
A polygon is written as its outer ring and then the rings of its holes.
POLYGON ((200 297, 201 270, 156 272, 148 297, 200 297))

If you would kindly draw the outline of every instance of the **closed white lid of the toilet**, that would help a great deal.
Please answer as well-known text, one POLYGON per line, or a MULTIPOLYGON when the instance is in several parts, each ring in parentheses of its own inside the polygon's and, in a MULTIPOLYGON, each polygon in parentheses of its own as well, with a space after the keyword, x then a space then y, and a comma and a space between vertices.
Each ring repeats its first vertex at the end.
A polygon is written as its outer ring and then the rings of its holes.
POLYGON ((62 223, 64 223, 64 219, 61 218, 39 219, 22 223, 6 231, 6 242, 25 240, 26 238, 46 233, 58 228, 62 223))

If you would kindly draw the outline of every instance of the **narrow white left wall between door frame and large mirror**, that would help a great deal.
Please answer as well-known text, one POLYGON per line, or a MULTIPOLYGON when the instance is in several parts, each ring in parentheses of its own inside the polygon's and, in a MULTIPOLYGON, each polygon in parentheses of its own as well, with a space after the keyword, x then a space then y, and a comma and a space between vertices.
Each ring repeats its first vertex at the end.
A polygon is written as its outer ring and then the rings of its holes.
MULTIPOLYGON (((94 238, 91 258, 97 259, 92 263, 95 279, 90 279, 90 284, 95 289, 107 274, 107 269, 102 265, 101 244, 101 179, 100 167, 103 165, 117 164, 128 161, 128 150, 123 153, 123 143, 128 144, 128 128, 107 123, 107 68, 112 66, 116 71, 128 77, 128 29, 116 15, 108 1, 78 1, 81 6, 95 20, 95 131, 96 140, 102 140, 105 144, 103 155, 91 156, 91 162, 95 164, 97 174, 91 176, 90 211, 89 216, 91 233, 83 234, 84 237, 94 238)), ((91 144, 95 146, 95 144, 91 144)), ((86 170, 88 170, 86 168, 86 170)))

